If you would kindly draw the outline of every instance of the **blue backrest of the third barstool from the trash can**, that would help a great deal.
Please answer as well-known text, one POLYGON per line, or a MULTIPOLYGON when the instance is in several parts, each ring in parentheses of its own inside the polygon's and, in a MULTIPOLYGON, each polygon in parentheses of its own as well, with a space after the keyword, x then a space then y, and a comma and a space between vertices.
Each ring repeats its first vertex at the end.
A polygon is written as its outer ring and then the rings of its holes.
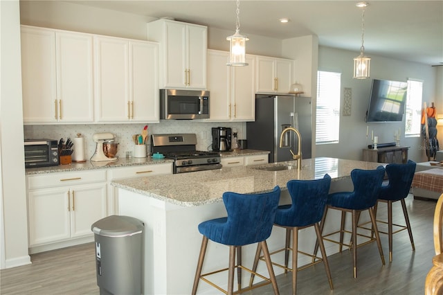
POLYGON ((352 202, 350 207, 355 210, 370 208, 377 202, 385 168, 377 167, 376 170, 354 169, 351 171, 352 183, 354 184, 354 193, 349 198, 352 202))

